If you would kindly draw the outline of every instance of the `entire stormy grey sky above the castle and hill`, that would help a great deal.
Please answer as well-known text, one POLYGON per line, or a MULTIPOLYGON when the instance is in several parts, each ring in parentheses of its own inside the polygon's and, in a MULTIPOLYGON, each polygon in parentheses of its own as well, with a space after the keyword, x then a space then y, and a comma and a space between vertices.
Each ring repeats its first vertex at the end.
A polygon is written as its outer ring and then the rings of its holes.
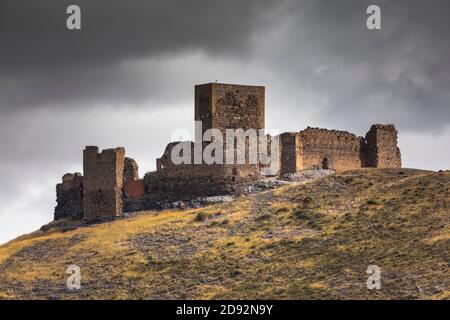
POLYGON ((52 220, 85 145, 153 170, 193 87, 266 86, 266 127, 394 123, 405 167, 450 168, 447 0, 2 0, 0 243, 52 220), (66 28, 81 8, 82 29, 66 28), (366 8, 381 7, 381 30, 366 8))

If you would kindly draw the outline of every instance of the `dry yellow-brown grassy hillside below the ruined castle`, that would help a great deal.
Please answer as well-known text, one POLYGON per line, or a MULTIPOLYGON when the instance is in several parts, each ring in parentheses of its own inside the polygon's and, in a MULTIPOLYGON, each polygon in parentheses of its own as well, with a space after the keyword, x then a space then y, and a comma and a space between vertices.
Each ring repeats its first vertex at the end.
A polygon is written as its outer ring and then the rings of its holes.
POLYGON ((362 170, 0 247, 0 298, 448 299, 450 172, 362 170), (67 266, 82 289, 66 288, 67 266), (381 268, 381 290, 366 288, 381 268))

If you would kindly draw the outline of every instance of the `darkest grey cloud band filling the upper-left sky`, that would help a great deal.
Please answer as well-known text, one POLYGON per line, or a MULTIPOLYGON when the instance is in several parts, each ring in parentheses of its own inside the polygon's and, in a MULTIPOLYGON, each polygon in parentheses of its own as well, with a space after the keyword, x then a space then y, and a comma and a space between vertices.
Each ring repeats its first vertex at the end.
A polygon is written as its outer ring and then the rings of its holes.
POLYGON ((85 67, 202 48, 242 54, 278 1, 6 0, 0 10, 0 67, 85 67), (66 8, 82 10, 82 30, 66 26, 66 8))

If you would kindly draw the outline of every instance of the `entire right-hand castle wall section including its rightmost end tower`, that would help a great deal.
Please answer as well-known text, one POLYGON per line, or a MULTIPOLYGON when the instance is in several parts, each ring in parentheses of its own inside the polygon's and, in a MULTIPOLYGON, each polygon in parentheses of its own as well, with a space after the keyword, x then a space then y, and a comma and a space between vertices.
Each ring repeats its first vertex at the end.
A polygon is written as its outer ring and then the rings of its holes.
POLYGON ((397 130, 393 125, 373 125, 366 138, 352 133, 306 128, 280 135, 280 173, 308 169, 344 171, 364 167, 401 167, 397 130))

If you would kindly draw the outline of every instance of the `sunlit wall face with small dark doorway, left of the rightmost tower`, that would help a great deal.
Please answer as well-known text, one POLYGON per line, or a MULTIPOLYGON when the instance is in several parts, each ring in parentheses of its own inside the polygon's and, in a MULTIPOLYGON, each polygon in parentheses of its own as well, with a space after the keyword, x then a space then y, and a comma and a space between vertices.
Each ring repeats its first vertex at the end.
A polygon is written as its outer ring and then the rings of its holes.
POLYGON ((302 169, 358 169, 363 166, 364 138, 319 128, 300 131, 302 169))

